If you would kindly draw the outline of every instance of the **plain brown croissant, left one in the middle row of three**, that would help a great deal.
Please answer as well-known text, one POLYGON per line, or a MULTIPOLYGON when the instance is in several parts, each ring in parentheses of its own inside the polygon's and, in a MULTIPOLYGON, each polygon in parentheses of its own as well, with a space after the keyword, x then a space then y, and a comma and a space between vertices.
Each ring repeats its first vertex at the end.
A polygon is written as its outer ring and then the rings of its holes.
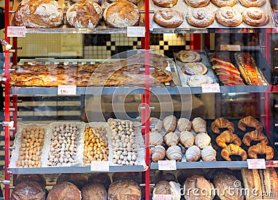
POLYGON ((230 131, 224 131, 218 137, 215 139, 216 144, 218 144, 218 147, 227 147, 226 143, 234 143, 238 146, 242 144, 240 138, 238 138, 238 135, 231 133, 230 131))

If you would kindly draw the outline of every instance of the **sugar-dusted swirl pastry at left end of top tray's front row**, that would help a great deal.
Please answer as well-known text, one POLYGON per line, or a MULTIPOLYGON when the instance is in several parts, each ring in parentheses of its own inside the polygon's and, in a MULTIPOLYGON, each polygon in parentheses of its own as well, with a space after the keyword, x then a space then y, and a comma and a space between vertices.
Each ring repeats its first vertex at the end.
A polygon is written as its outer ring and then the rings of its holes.
POLYGON ((183 23, 183 17, 177 10, 164 8, 154 12, 154 22, 166 28, 174 28, 183 23))

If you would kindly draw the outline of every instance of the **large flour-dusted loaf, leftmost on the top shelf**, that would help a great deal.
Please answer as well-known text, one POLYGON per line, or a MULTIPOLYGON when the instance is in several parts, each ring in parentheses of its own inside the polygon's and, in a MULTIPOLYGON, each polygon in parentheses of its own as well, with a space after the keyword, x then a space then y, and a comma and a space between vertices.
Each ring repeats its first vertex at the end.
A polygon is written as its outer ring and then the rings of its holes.
POLYGON ((63 9, 55 0, 22 0, 14 23, 28 28, 58 27, 63 23, 63 9))

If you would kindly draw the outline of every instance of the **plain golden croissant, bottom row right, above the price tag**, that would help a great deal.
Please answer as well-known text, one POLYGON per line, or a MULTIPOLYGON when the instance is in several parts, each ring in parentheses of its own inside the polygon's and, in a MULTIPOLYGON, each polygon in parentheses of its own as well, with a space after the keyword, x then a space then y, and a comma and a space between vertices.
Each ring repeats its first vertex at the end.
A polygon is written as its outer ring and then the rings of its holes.
POLYGON ((272 147, 258 143, 248 149, 248 156, 250 158, 258 158, 258 154, 265 154, 265 160, 271 160, 274 157, 274 150, 272 147))

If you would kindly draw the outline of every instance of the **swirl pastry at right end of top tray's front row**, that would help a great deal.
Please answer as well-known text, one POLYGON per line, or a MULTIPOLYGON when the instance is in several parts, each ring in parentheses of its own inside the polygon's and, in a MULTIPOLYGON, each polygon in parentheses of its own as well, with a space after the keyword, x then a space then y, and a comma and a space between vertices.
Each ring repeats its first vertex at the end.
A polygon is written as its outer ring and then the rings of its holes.
POLYGON ((263 26, 268 24, 269 15, 261 8, 251 7, 243 11, 243 22, 251 26, 263 26))

